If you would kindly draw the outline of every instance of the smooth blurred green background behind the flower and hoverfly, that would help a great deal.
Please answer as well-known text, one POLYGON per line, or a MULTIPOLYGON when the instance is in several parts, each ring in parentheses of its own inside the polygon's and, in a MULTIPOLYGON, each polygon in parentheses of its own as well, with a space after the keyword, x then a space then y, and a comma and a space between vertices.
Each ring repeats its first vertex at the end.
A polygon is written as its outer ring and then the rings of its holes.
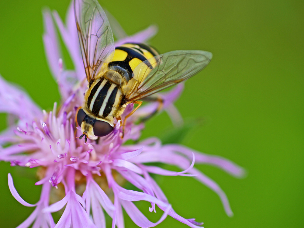
MULTIPOLYGON (((48 6, 64 18, 68 5, 69 1, 0 2, 0 73, 47 110, 60 96, 44 54, 41 12, 48 6)), ((159 32, 150 44, 162 53, 213 53, 209 66, 186 82, 176 102, 186 122, 203 120, 181 144, 226 157, 243 166, 247 177, 236 179, 199 166, 226 192, 232 218, 218 196, 194 179, 158 178, 175 211, 203 221, 207 228, 304 227, 304 2, 155 0, 101 5, 128 34, 157 24, 159 32)), ((4 129, 5 115, 1 119, 4 129)), ((170 128, 170 119, 162 113, 147 123, 142 138, 162 136, 170 128)), ((12 197, 8 172, 25 200, 39 199, 35 170, 25 169, 0 162, 1 227, 15 227, 33 211, 12 197)), ((126 218, 126 227, 133 226, 126 218)), ((187 226, 168 217, 158 227, 187 226)))

